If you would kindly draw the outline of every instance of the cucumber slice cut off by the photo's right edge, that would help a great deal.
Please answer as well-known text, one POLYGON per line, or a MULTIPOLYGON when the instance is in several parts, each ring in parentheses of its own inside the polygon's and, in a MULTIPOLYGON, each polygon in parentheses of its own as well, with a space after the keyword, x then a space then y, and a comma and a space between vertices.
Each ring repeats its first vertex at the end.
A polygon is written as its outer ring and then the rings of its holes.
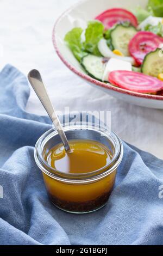
POLYGON ((162 50, 157 48, 154 52, 149 52, 143 60, 141 71, 143 74, 158 77, 163 73, 162 50))

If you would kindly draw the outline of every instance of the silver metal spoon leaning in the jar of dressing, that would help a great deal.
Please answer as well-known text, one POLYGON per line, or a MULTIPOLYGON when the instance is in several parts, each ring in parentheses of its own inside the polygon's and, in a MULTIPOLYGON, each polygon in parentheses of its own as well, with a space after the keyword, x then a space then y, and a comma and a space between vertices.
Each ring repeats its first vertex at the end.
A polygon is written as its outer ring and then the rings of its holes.
POLYGON ((39 100, 41 101, 46 112, 48 113, 49 118, 51 118, 52 123, 54 124, 55 128, 57 129, 59 136, 61 138, 61 141, 64 144, 65 150, 66 151, 70 150, 70 145, 68 144, 68 140, 66 138, 65 132, 62 129, 60 120, 55 112, 52 102, 49 99, 45 85, 42 82, 40 72, 36 69, 31 70, 28 74, 28 80, 29 80, 30 84, 32 85, 35 93, 39 97, 39 100))

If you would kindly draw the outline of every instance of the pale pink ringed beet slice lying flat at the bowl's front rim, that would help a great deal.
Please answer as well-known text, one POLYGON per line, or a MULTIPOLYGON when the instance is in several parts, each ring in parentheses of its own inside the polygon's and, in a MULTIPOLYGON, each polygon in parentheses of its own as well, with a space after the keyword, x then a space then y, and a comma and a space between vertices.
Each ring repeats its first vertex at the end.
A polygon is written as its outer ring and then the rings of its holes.
POLYGON ((163 82, 158 78, 134 71, 112 71, 109 74, 109 82, 137 93, 155 93, 163 89, 163 82))

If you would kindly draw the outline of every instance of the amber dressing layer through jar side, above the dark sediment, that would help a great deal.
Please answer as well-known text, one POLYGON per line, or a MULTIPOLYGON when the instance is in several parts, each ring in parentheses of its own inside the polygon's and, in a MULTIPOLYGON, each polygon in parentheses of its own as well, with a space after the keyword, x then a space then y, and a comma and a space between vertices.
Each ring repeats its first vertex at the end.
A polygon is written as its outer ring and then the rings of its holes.
POLYGON ((63 202, 89 202, 112 190, 115 183, 116 170, 103 179, 84 184, 68 184, 55 180, 45 173, 43 179, 49 194, 63 202))

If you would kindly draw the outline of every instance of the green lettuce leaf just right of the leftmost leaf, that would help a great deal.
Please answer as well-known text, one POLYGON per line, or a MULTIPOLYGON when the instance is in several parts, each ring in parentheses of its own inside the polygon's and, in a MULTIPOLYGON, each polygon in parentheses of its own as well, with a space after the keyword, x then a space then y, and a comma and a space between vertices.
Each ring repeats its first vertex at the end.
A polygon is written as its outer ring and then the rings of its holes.
POLYGON ((98 51, 98 42, 103 38, 104 25, 99 21, 89 21, 88 26, 85 31, 85 51, 95 54, 96 56, 101 56, 98 51))

